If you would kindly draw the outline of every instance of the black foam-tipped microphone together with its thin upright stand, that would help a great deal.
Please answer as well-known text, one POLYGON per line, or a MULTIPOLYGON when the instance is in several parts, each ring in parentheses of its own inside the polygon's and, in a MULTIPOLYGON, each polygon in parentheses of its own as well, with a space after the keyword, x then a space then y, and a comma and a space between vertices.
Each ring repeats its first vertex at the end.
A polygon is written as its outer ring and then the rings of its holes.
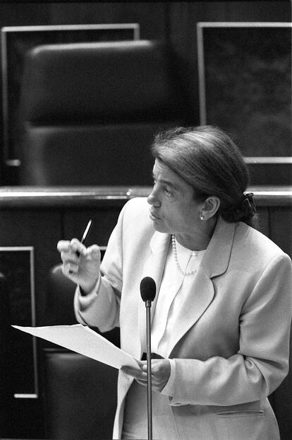
POLYGON ((145 277, 140 282, 140 294, 146 307, 146 354, 147 354, 147 422, 148 440, 152 440, 152 371, 151 371, 151 303, 156 295, 156 284, 151 277, 145 277))

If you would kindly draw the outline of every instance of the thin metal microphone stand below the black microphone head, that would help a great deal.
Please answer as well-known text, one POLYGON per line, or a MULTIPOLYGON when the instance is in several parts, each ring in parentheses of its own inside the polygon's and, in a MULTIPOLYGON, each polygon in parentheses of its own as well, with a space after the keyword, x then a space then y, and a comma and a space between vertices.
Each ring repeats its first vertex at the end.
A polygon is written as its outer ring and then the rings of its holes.
POLYGON ((151 370, 151 301, 145 301, 146 306, 146 354, 147 354, 147 422, 148 440, 152 440, 152 370, 151 370))

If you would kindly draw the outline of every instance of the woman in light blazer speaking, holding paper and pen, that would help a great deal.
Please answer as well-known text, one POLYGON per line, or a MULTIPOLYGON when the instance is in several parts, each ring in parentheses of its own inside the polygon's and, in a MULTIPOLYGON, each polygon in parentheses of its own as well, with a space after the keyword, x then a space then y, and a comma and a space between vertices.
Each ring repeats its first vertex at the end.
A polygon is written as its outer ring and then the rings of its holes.
MULTIPOLYGON (((221 129, 170 130, 152 154, 153 190, 123 207, 100 270, 97 245, 58 244, 76 316, 120 326, 121 348, 143 359, 152 277, 154 439, 279 439, 267 396, 288 372, 291 260, 252 227, 248 171, 221 129)), ((146 361, 119 372, 114 439, 147 438, 146 384, 146 361)))

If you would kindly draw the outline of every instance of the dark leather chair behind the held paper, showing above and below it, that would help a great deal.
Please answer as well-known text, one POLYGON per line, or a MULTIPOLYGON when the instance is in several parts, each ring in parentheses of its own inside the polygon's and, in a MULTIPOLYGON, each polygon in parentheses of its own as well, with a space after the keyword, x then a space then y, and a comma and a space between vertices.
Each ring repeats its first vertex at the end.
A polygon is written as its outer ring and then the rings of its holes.
MULTIPOLYGON (((73 325, 75 284, 56 265, 47 279, 44 325, 73 325)), ((98 329, 95 328, 98 332, 98 329)), ((119 345, 119 329, 103 333, 119 345)), ((42 389, 47 439, 111 439, 116 412, 118 371, 81 354, 45 344, 42 350, 42 389)))

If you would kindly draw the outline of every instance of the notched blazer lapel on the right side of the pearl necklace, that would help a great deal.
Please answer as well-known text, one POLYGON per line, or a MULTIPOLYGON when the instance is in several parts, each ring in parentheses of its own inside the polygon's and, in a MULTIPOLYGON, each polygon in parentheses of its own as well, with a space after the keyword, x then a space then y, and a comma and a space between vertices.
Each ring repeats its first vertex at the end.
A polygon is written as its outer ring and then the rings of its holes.
POLYGON ((229 265, 234 228, 234 224, 228 224, 221 218, 218 219, 211 241, 191 285, 191 291, 178 311, 169 341, 169 354, 212 302, 214 298, 212 277, 224 273, 229 265))

